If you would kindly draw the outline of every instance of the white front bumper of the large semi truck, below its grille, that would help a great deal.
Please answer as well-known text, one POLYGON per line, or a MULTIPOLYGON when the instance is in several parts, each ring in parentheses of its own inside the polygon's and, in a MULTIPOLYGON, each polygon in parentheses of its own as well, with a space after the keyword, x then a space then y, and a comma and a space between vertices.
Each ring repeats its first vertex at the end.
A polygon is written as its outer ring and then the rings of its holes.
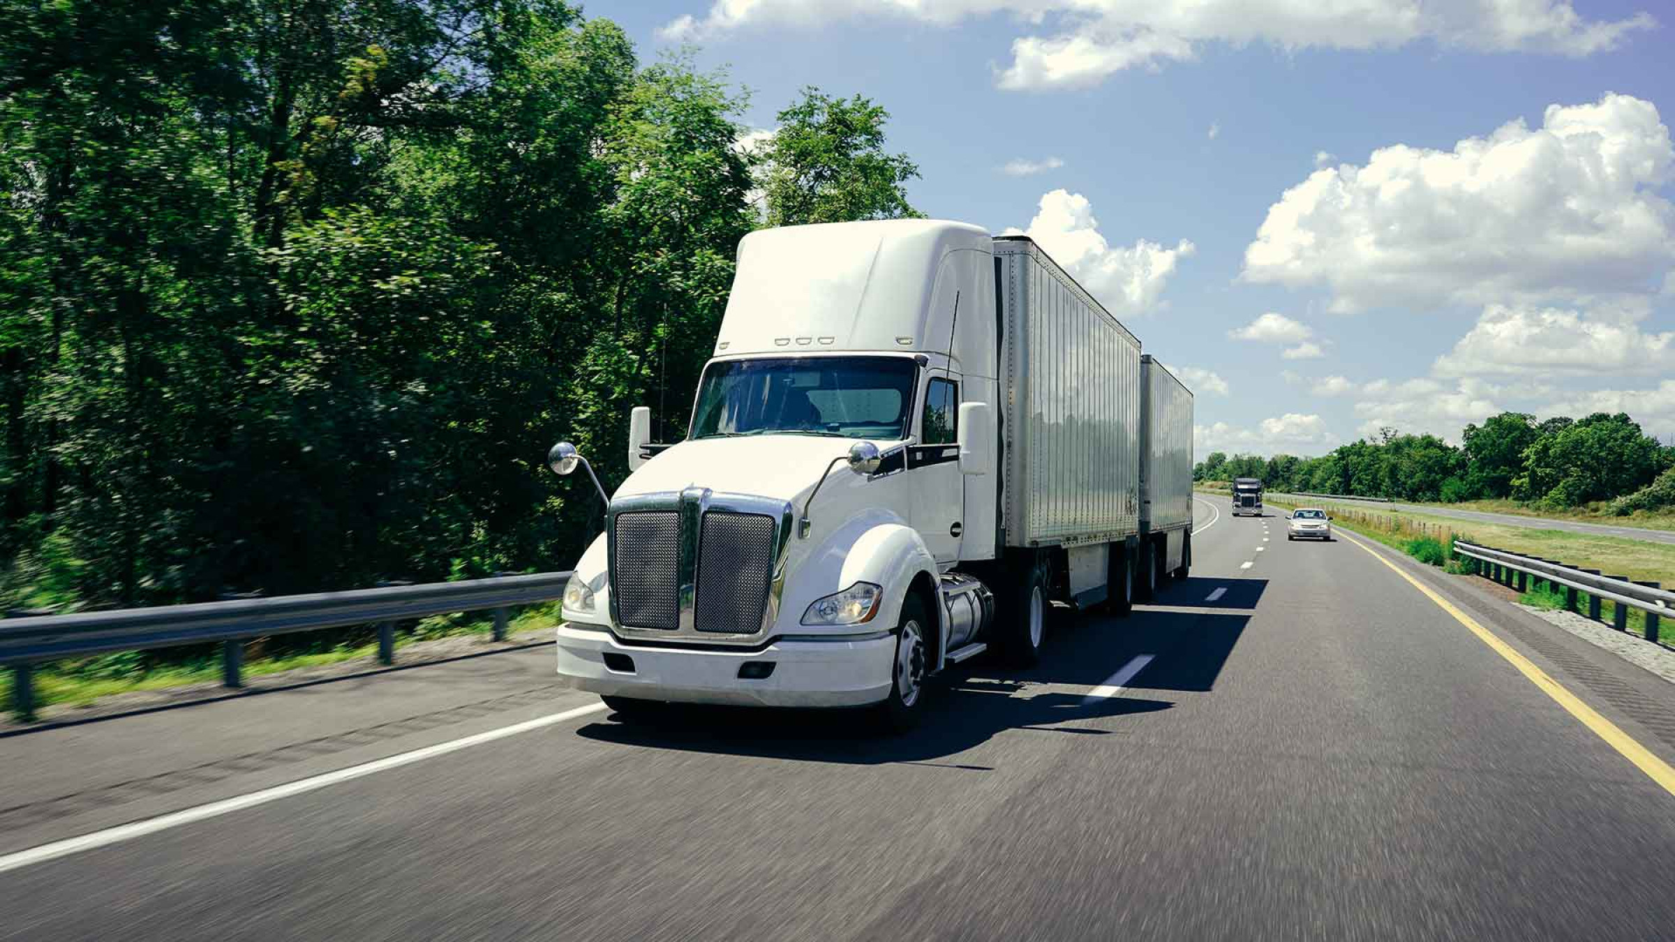
POLYGON ((595 625, 558 627, 558 672, 595 694, 695 704, 844 707, 889 696, 896 637, 777 640, 762 650, 625 645, 595 625), (606 657, 611 655, 611 657, 606 657), (739 675, 772 664, 767 677, 739 675))

